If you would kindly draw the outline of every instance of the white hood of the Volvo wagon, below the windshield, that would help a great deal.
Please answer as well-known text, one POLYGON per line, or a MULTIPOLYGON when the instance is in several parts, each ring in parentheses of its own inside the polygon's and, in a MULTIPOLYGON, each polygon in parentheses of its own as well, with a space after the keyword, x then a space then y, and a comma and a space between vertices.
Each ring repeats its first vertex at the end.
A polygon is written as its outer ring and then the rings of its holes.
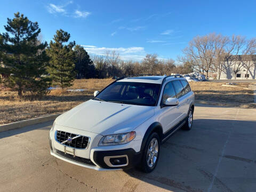
POLYGON ((154 115, 154 107, 89 100, 60 115, 55 123, 102 135, 134 130, 154 115))

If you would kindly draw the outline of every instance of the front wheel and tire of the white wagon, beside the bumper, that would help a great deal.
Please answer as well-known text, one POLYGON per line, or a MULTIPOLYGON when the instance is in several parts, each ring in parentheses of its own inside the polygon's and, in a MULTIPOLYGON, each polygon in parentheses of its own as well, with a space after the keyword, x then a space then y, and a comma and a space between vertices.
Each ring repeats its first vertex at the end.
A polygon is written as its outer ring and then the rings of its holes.
POLYGON ((156 132, 154 132, 148 138, 145 148, 143 149, 140 167, 143 172, 150 173, 155 169, 160 155, 160 148, 161 143, 159 135, 156 132))

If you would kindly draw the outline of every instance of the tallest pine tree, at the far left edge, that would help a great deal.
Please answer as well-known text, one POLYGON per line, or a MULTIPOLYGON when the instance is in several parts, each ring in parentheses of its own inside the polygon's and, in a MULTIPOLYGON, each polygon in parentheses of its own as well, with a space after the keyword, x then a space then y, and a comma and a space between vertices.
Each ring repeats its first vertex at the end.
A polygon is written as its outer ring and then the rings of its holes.
POLYGON ((46 76, 49 57, 47 43, 37 39, 41 32, 38 23, 17 12, 13 19, 7 18, 4 28, 7 32, 0 34, 0 55, 6 67, 0 67, 0 73, 8 76, 5 86, 17 90, 19 97, 26 91, 45 93, 50 84, 46 76))

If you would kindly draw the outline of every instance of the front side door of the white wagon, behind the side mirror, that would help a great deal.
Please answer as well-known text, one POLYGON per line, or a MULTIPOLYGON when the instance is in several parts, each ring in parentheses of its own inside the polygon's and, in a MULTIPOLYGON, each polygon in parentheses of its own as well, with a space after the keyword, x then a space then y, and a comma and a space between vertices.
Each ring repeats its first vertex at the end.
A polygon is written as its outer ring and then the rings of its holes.
POLYGON ((178 124, 180 116, 182 115, 180 110, 177 110, 176 106, 163 106, 163 103, 167 98, 176 98, 176 93, 174 91, 172 82, 168 82, 164 86, 160 103, 161 107, 159 109, 160 115, 158 122, 162 124, 164 133, 170 131, 176 124, 178 124))

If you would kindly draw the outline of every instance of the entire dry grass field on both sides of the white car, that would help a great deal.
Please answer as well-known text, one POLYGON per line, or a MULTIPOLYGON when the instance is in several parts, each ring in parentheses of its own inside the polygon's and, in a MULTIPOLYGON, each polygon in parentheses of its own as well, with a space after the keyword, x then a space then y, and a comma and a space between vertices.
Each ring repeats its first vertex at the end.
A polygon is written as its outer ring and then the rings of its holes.
MULTIPOLYGON (((67 92, 52 90, 43 98, 33 101, 20 100, 17 92, 0 91, 0 124, 21 121, 47 114, 67 111, 79 103, 93 97, 95 90, 102 90, 113 82, 113 79, 76 79, 68 89, 85 89, 84 92, 67 92)), ((196 94, 196 100, 252 103, 253 92, 246 89, 249 83, 239 83, 238 87, 221 86, 223 83, 190 82, 191 89, 196 94)))

